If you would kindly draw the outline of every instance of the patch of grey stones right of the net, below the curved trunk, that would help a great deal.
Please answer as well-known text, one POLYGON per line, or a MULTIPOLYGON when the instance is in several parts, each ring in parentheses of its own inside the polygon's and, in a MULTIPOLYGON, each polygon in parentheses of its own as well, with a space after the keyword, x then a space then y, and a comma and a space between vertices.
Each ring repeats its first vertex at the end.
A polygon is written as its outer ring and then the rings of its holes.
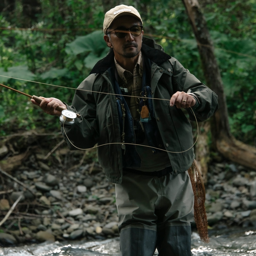
POLYGON ((208 224, 218 228, 232 225, 255 227, 252 212, 256 209, 256 172, 235 164, 229 167, 218 163, 210 166, 208 171, 210 182, 205 184, 208 224))

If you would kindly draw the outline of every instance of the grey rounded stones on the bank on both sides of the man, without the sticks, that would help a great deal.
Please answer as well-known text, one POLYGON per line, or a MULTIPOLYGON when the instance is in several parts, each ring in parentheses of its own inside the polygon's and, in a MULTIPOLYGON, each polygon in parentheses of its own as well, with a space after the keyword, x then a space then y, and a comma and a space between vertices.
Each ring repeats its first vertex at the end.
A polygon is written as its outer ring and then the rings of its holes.
MULTIPOLYGON (((20 227, 12 227, 0 236, 1 244, 119 236, 114 184, 108 182, 99 165, 83 164, 65 171, 44 162, 44 155, 40 164, 36 158, 38 155, 27 164, 32 167, 21 166, 12 173, 31 191, 11 179, 5 181, 9 192, 0 197, 0 213, 5 215, 20 195, 22 200, 4 226, 14 221, 15 211, 24 215, 20 227)), ((212 229, 256 227, 255 171, 216 163, 209 166, 207 180, 205 206, 212 229)))

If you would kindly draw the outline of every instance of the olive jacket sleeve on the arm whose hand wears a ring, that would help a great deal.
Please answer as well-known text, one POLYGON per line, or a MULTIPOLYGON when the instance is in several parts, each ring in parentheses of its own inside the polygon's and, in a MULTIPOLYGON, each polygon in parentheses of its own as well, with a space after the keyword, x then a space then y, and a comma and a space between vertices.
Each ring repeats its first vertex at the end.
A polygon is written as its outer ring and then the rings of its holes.
MULTIPOLYGON (((185 69, 175 58, 170 59, 173 75, 172 84, 176 91, 184 91, 193 95, 197 104, 192 107, 196 119, 205 121, 218 110, 218 96, 205 84, 201 83, 189 70, 185 69)), ((195 121, 195 116, 187 108, 190 120, 195 121)))

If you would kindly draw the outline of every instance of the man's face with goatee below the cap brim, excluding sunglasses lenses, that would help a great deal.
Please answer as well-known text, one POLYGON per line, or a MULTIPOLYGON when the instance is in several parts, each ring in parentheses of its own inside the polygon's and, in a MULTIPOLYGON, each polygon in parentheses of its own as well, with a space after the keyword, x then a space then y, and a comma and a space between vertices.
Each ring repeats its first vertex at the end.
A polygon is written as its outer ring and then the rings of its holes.
MULTIPOLYGON (((140 26, 139 20, 132 16, 121 16, 113 21, 109 31, 127 31, 133 26, 140 26)), ((129 31, 127 31, 124 38, 117 37, 115 31, 111 32, 110 38, 105 35, 104 40, 106 41, 108 47, 112 47, 116 59, 119 58, 133 58, 138 55, 142 46, 142 36, 143 31, 139 36, 133 36, 129 31)))

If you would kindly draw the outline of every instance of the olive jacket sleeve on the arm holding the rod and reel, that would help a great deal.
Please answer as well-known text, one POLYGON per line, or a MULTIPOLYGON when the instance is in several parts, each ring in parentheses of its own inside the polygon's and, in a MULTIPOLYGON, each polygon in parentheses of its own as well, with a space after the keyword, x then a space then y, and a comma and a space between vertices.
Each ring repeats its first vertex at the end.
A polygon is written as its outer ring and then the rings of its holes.
POLYGON ((91 91, 93 91, 92 83, 90 78, 87 78, 76 89, 72 105, 66 104, 68 110, 81 115, 81 117, 75 118, 75 123, 72 125, 61 123, 61 132, 71 150, 92 148, 98 142, 96 103, 91 91))

